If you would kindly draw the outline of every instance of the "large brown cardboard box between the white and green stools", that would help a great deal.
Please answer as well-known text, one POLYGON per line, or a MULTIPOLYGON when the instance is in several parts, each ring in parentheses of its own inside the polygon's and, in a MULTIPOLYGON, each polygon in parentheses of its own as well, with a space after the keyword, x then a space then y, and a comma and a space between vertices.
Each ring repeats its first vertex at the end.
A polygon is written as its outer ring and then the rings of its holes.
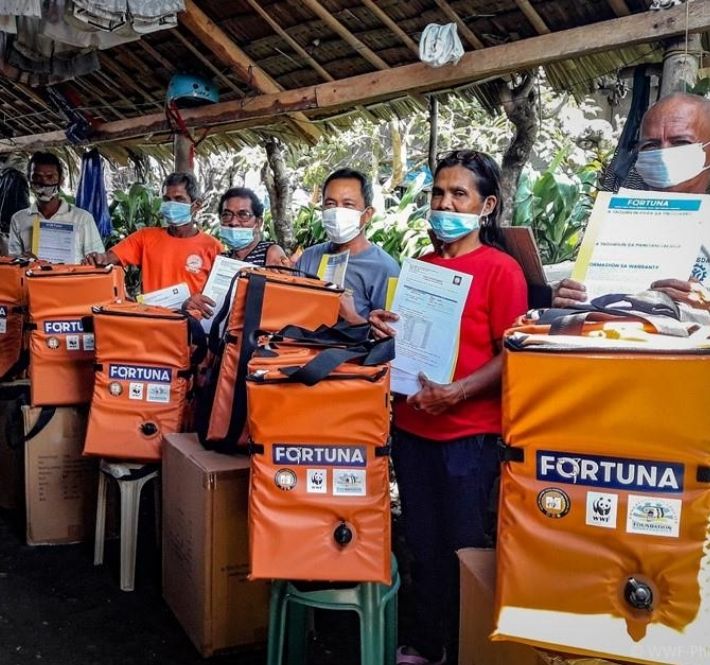
POLYGON ((170 434, 162 480, 168 605, 203 656, 263 642, 268 583, 247 579, 249 460, 170 434))

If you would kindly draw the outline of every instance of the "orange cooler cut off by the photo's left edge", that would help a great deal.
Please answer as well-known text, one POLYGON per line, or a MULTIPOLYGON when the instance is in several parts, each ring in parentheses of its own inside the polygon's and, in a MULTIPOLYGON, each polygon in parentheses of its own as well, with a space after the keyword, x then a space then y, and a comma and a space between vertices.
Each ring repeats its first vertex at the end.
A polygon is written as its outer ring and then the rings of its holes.
POLYGON ((23 351, 28 265, 25 259, 0 257, 0 381, 11 381, 26 366, 23 351))

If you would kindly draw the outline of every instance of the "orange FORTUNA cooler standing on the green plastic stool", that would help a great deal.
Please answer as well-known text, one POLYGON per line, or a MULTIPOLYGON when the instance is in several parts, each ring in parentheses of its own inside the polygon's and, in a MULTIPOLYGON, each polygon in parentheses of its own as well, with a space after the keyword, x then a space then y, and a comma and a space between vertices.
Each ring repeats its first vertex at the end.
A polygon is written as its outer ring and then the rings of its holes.
POLYGON ((390 582, 390 341, 369 359, 301 347, 253 356, 253 578, 390 582))

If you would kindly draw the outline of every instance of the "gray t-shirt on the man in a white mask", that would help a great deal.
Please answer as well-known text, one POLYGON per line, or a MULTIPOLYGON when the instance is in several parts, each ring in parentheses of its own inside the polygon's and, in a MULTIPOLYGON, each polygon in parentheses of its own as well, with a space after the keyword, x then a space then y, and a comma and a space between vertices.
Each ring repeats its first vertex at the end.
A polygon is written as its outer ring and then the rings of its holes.
MULTIPOLYGON (((317 275, 323 255, 335 251, 329 242, 313 245, 301 254, 296 267, 317 275)), ((358 254, 351 254, 345 271, 345 288, 353 292, 357 313, 367 318, 373 309, 383 309, 387 299, 387 283, 390 277, 398 276, 399 264, 376 245, 370 245, 358 254)))

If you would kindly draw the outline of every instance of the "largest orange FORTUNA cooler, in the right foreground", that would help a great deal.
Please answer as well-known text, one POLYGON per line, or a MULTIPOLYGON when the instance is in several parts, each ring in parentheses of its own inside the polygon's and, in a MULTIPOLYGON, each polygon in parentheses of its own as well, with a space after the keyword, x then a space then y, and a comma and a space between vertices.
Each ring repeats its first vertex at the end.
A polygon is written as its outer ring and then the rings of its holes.
POLYGON ((504 352, 493 639, 708 664, 710 353, 619 344, 504 352))

